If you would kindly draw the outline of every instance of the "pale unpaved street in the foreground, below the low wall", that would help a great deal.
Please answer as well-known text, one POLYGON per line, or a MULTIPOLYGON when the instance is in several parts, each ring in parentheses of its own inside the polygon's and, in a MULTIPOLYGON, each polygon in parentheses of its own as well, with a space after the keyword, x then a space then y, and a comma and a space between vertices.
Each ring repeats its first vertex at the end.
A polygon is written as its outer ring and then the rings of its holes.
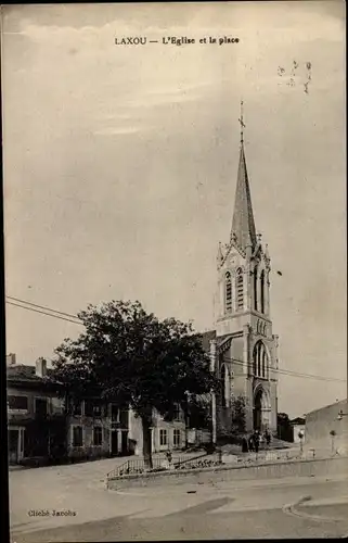
POLYGON ((344 536, 346 478, 182 483, 107 491, 115 460, 10 472, 12 541, 344 536), (301 502, 302 501, 302 502, 301 502), (65 516, 53 515, 64 512, 65 516), (46 512, 46 516, 33 516, 46 512))

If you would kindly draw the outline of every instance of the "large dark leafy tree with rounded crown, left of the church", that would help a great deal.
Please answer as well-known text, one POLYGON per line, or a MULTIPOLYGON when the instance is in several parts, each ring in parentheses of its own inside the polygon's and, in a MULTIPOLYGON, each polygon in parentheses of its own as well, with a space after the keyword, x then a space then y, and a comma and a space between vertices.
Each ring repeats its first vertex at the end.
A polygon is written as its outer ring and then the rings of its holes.
POLYGON ((143 456, 152 468, 154 409, 171 419, 176 405, 186 409, 189 394, 218 384, 201 337, 191 324, 160 321, 140 302, 89 305, 78 317, 86 331, 55 350, 52 379, 73 402, 99 396, 105 404, 129 405, 141 418, 143 456))

